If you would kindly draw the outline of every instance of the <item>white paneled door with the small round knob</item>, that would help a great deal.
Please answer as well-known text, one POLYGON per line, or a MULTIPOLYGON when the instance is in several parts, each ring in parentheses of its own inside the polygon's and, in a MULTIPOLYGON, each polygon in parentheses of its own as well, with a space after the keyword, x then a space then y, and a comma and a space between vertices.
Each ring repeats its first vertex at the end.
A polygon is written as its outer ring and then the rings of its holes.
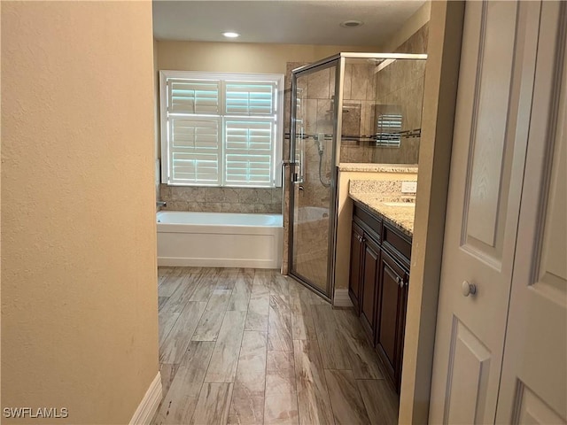
POLYGON ((466 4, 431 423, 495 420, 539 20, 539 2, 466 4))

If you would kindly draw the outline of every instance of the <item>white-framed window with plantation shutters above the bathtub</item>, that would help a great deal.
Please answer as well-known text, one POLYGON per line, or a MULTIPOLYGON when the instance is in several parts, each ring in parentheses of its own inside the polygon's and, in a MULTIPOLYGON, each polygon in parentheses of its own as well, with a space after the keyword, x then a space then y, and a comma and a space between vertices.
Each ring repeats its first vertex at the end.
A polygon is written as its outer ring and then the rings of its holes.
POLYGON ((159 72, 161 180, 281 186, 283 74, 159 72))

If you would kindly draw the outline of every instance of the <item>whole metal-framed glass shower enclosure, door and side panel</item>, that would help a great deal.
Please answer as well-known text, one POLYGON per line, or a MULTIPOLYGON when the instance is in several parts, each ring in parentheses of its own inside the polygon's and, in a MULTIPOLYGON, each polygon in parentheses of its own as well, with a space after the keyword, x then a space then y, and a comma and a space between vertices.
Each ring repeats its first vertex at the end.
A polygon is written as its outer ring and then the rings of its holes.
POLYGON ((421 128, 423 84, 405 102, 389 96, 392 81, 423 73, 425 58, 339 53, 291 73, 289 273, 322 298, 332 298, 335 283, 338 164, 398 162, 373 148, 400 148, 421 128))

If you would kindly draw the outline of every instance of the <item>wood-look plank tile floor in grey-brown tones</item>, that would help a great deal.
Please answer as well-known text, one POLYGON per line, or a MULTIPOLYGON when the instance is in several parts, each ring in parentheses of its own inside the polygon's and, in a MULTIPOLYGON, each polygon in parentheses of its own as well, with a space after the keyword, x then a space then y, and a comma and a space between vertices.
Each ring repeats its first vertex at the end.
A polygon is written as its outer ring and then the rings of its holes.
POLYGON ((154 424, 397 423, 397 396, 351 310, 276 270, 158 274, 154 424))

